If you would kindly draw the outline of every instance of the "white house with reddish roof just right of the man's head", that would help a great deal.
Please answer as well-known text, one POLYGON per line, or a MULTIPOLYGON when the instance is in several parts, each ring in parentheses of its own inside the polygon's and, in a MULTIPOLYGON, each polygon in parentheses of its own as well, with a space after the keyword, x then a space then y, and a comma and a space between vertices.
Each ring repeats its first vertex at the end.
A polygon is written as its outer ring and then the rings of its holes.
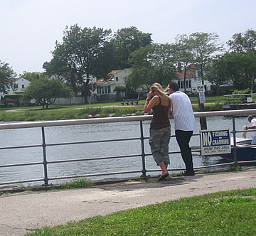
MULTIPOLYGON (((184 91, 184 73, 185 70, 179 70, 177 73, 178 80, 174 80, 178 82, 178 86, 181 91, 184 91)), ((186 92, 195 92, 197 85, 202 85, 202 80, 198 77, 198 70, 196 70, 193 65, 188 66, 186 70, 186 92)), ((203 80, 203 85, 206 91, 211 91, 213 84, 208 80, 203 80)))

